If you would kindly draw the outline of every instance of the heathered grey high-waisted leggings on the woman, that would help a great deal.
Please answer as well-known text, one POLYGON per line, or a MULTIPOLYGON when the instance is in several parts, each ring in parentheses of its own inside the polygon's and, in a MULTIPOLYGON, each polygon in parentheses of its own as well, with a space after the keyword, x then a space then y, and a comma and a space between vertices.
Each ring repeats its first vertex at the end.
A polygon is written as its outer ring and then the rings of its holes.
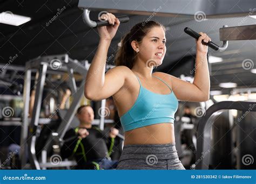
POLYGON ((125 145, 117 169, 185 169, 172 144, 125 145))

